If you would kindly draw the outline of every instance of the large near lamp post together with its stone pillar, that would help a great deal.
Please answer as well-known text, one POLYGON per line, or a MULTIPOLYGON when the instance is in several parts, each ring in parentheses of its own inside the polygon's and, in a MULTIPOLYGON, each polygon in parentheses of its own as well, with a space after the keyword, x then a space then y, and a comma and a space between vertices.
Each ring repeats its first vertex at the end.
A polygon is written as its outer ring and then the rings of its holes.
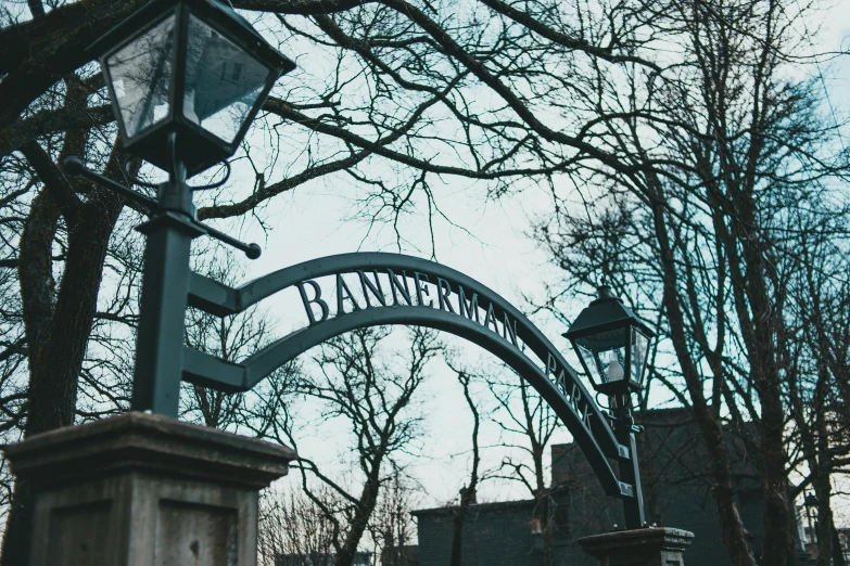
POLYGON ((229 176, 226 159, 275 81, 295 65, 218 0, 152 0, 88 53, 100 57, 124 149, 168 173, 154 200, 79 157, 63 163, 149 217, 138 228, 147 242, 134 411, 4 448, 31 497, 9 531, 22 541, 11 559, 256 564, 258 490, 286 475, 295 452, 175 417, 192 240, 206 234, 252 259, 261 249, 199 222, 192 192, 203 188, 187 179, 216 163, 229 176))

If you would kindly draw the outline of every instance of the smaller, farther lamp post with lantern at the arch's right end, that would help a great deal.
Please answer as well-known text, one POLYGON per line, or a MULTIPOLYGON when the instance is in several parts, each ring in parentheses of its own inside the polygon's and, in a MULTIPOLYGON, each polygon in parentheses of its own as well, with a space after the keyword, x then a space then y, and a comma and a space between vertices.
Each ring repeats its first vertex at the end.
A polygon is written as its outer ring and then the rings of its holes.
POLYGON ((611 294, 611 287, 601 285, 598 298, 582 310, 563 336, 579 355, 594 389, 610 399, 614 436, 632 454, 630 464, 620 466, 622 480, 635 491, 634 498, 623 500, 625 527, 642 528, 646 515, 635 446, 635 434, 642 428, 632 417, 631 397, 643 387, 655 332, 611 294))

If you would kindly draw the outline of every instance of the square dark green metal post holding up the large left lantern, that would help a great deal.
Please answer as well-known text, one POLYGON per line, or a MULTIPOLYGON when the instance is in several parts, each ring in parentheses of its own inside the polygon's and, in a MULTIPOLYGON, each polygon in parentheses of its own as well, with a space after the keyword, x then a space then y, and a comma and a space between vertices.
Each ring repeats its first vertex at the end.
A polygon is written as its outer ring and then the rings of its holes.
POLYGON ((138 230, 144 248, 132 410, 177 416, 182 377, 185 318, 189 293, 189 253, 203 234, 192 222, 192 193, 186 168, 160 185, 157 209, 138 230))

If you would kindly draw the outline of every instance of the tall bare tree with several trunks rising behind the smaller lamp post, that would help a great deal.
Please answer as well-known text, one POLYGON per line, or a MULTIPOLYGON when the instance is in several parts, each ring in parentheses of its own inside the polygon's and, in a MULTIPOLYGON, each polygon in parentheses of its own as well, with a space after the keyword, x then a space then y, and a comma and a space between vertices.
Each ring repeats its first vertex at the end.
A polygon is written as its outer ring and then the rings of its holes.
MULTIPOLYGON (((587 179, 575 179, 581 204, 556 196, 558 219, 537 232, 570 273, 568 290, 596 284, 601 274, 622 296, 660 301, 667 347, 678 366, 673 380, 655 376, 700 424, 724 542, 736 565, 752 565, 756 557, 734 501, 724 410, 759 456, 761 561, 795 563, 782 263, 799 252, 789 211, 835 203, 824 179, 847 173, 846 156, 834 151, 838 125, 819 114, 816 85, 782 76, 784 53, 805 44, 787 33, 803 14, 786 8, 750 1, 667 5, 681 31, 676 79, 635 74, 624 83, 627 94, 612 103, 619 110, 598 101, 600 116, 629 116, 602 118, 600 136, 627 151, 635 169, 596 173, 602 194, 587 179), (652 117, 645 120, 644 112, 652 117), (745 422, 757 424, 757 437, 745 422)), ((589 80, 599 88, 606 81, 589 80)))

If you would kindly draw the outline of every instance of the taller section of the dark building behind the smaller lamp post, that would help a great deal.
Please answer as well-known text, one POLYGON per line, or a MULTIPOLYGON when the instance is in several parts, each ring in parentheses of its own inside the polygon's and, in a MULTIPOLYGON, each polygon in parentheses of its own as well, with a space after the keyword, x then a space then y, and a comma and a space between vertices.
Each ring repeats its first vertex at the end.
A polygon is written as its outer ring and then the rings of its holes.
MULTIPOLYGON (((645 427, 638 435, 644 503, 647 519, 661 527, 693 531, 694 543, 685 554, 688 566, 725 566, 731 564, 718 524, 716 506, 711 493, 711 478, 706 468, 708 455, 699 427, 684 410, 649 411, 638 423, 645 427)), ((762 544, 762 496, 754 461, 743 439, 732 430, 724 432, 733 474, 733 489, 738 512, 750 533, 750 544, 758 556, 762 544)), ((621 503, 605 496, 596 477, 574 445, 558 445, 551 450, 553 485, 566 493, 573 531, 564 544, 575 566, 593 566, 593 559, 581 557, 574 541, 582 536, 610 530, 622 525, 621 503)))

